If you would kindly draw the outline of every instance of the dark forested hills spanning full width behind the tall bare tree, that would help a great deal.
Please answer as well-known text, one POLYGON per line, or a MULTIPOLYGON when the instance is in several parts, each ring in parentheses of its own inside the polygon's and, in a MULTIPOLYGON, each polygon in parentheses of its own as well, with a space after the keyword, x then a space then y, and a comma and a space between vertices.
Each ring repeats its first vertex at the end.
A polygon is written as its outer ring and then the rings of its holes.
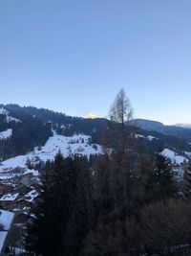
MULTIPOLYGON (((0 132, 11 129, 9 137, 0 137, 1 160, 25 154, 32 151, 34 147, 44 146, 49 137, 53 135, 53 130, 64 136, 86 134, 91 136, 92 143, 107 146, 104 135, 107 133, 109 124, 114 122, 102 118, 71 117, 32 106, 0 105, 0 109, 0 132)), ((185 131, 189 132, 189 129, 179 128, 180 137, 176 134, 164 134, 156 130, 138 128, 138 123, 135 123, 135 127, 132 126, 132 122, 128 122, 128 124, 124 125, 129 133, 137 132, 138 135, 141 135, 137 139, 134 137, 131 139, 131 144, 134 144, 134 147, 138 147, 139 143, 144 140, 144 144, 147 145, 146 147, 151 153, 164 148, 182 155, 184 155, 184 151, 191 151, 189 137, 186 139, 187 133, 184 133, 185 131), (147 136, 152 136, 154 139, 146 139, 147 136)), ((115 126, 118 126, 117 123, 115 126)))

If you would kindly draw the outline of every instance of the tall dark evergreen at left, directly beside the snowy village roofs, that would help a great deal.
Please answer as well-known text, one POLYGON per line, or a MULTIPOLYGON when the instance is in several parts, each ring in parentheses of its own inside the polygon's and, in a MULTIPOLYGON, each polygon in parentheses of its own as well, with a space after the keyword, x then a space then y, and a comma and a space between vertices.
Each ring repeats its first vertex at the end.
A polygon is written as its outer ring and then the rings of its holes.
POLYGON ((62 234, 68 223, 67 172, 61 153, 53 164, 47 163, 42 177, 41 194, 34 209, 35 218, 28 226, 27 247, 37 255, 62 255, 62 234))

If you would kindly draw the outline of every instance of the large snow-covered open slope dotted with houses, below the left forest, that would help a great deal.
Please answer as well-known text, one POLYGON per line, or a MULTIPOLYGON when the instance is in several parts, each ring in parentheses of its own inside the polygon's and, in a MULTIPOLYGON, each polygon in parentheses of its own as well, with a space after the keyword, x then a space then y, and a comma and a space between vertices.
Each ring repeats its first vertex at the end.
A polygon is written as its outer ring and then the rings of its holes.
POLYGON ((91 136, 88 135, 79 134, 66 137, 53 132, 53 136, 49 138, 44 147, 35 148, 28 154, 18 155, 3 161, 0 165, 0 171, 16 167, 25 168, 28 160, 32 163, 37 163, 39 160, 53 160, 58 151, 61 151, 65 157, 74 154, 89 157, 90 154, 102 153, 102 148, 97 144, 91 144, 91 136))

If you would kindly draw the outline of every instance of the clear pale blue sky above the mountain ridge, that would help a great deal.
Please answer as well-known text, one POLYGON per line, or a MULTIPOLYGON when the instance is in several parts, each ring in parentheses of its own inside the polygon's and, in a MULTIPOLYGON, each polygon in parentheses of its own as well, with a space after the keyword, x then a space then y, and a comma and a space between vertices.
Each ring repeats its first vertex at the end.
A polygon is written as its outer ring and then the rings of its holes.
POLYGON ((0 102, 191 123, 190 0, 1 0, 0 102))

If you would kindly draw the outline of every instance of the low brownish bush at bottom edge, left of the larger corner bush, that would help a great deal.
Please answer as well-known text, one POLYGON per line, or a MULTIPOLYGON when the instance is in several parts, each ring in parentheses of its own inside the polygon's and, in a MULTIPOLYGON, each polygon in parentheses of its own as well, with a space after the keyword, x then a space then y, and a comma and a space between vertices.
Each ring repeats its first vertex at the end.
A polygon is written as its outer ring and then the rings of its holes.
POLYGON ((136 221, 99 223, 85 241, 86 256, 138 255, 139 227, 136 221))

